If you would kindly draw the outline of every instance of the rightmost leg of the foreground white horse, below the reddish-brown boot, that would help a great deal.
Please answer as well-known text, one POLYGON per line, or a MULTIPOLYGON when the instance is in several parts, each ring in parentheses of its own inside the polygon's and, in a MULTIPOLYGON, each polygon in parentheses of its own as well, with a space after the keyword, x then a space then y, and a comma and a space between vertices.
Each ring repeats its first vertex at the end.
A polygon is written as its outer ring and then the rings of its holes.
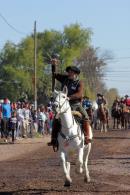
POLYGON ((85 176, 84 182, 90 182, 90 175, 88 170, 88 158, 91 151, 91 143, 88 143, 87 148, 84 148, 84 167, 85 167, 85 176))

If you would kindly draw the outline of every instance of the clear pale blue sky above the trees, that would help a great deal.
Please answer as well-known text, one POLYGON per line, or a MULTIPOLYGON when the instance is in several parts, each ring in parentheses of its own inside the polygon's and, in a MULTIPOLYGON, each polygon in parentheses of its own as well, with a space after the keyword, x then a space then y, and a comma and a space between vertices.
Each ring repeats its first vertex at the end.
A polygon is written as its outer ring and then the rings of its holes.
POLYGON ((0 49, 33 32, 62 31, 79 23, 93 32, 92 45, 113 56, 105 70, 108 89, 130 96, 130 0, 0 0, 0 49))

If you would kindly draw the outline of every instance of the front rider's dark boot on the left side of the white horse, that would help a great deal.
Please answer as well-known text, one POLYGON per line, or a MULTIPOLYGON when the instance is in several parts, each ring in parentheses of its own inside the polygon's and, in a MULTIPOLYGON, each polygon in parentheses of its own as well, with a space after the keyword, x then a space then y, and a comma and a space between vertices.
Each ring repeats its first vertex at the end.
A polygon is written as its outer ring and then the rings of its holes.
POLYGON ((51 142, 48 143, 48 146, 58 146, 57 138, 60 129, 61 129, 60 121, 58 119, 54 119, 52 124, 51 142))

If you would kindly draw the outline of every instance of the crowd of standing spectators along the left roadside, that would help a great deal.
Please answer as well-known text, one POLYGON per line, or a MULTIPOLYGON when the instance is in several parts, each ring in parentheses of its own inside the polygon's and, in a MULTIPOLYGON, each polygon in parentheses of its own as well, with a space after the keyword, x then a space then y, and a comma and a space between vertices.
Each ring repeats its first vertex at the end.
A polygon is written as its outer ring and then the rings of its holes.
POLYGON ((40 105, 35 110, 29 102, 10 102, 5 98, 0 100, 0 136, 7 142, 13 134, 14 142, 36 134, 51 134, 53 117, 50 105, 40 105))

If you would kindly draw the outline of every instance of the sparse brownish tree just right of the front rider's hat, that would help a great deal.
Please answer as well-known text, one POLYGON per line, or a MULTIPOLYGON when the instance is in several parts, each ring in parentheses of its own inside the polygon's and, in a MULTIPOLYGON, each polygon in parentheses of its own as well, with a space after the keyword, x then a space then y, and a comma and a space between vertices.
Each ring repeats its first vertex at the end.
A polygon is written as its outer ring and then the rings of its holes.
POLYGON ((102 93, 105 90, 103 76, 106 62, 104 58, 104 56, 98 56, 98 48, 89 47, 76 61, 83 73, 88 88, 86 91, 90 91, 91 98, 95 97, 97 92, 102 93))

